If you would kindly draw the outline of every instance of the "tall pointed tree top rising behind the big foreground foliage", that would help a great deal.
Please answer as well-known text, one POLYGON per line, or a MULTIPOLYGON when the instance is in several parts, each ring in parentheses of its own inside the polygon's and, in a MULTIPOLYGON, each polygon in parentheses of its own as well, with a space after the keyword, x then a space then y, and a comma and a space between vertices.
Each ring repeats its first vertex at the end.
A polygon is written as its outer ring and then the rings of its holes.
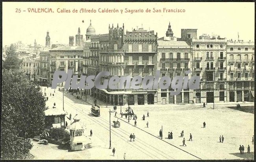
POLYGON ((20 60, 17 57, 16 49, 13 44, 6 50, 6 60, 2 62, 3 69, 19 69, 20 68, 20 60))

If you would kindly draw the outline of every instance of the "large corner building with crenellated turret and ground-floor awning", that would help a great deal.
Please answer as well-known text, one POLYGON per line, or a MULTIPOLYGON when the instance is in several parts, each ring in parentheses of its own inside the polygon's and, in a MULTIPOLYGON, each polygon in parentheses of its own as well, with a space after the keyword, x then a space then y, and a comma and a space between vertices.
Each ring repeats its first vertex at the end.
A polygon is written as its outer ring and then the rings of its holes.
MULTIPOLYGON (((157 67, 157 34, 143 28, 126 31, 124 25, 110 27, 109 34, 100 35, 100 70, 110 76, 155 75, 157 67)), ((125 86, 125 85, 124 85, 125 86)), ((102 89, 100 98, 116 105, 145 105, 157 103, 157 89, 102 89)))

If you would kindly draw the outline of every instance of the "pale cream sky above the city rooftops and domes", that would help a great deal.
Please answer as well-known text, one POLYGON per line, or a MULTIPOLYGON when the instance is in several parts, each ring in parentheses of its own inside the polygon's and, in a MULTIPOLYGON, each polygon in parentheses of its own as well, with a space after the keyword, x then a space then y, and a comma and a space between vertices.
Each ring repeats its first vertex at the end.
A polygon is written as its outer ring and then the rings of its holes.
POLYGON ((178 38, 181 29, 198 29, 198 38, 202 34, 214 34, 237 40, 239 32, 240 40, 253 41, 255 32, 253 2, 2 2, 2 10, 3 46, 18 41, 33 44, 34 40, 45 45, 47 31, 51 44, 69 44, 69 36, 75 36, 78 27, 85 38, 90 20, 96 34, 107 34, 109 24, 122 27, 124 23, 124 31, 142 26, 154 30, 160 38, 165 36, 169 22, 178 38), (29 8, 51 8, 54 13, 29 13, 29 8), (58 13, 58 8, 59 11, 70 10, 70 13, 58 13), (80 13, 81 8, 95 9, 96 13, 80 13), (98 12, 104 8, 119 12, 98 12), (153 13, 153 8, 161 13, 153 13), (167 13, 163 8, 185 12, 167 13), (72 13, 73 9, 78 13, 72 13), (143 12, 125 13, 125 9, 143 12), (147 9, 151 12, 146 12, 147 9))

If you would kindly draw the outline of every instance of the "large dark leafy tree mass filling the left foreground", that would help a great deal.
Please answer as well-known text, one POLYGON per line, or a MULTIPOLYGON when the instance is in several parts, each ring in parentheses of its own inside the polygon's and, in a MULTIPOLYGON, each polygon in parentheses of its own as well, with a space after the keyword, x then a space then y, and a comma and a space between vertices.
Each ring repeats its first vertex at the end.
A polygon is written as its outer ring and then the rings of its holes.
POLYGON ((2 71, 1 158, 24 158, 30 140, 44 131, 45 100, 20 69, 2 71))

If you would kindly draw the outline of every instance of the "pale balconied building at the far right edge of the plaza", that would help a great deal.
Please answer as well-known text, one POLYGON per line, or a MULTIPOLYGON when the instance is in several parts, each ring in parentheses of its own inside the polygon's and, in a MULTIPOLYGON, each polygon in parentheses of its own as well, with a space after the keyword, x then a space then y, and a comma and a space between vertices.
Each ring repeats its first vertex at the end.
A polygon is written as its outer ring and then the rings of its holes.
POLYGON ((227 101, 254 102, 254 42, 227 42, 227 101))

